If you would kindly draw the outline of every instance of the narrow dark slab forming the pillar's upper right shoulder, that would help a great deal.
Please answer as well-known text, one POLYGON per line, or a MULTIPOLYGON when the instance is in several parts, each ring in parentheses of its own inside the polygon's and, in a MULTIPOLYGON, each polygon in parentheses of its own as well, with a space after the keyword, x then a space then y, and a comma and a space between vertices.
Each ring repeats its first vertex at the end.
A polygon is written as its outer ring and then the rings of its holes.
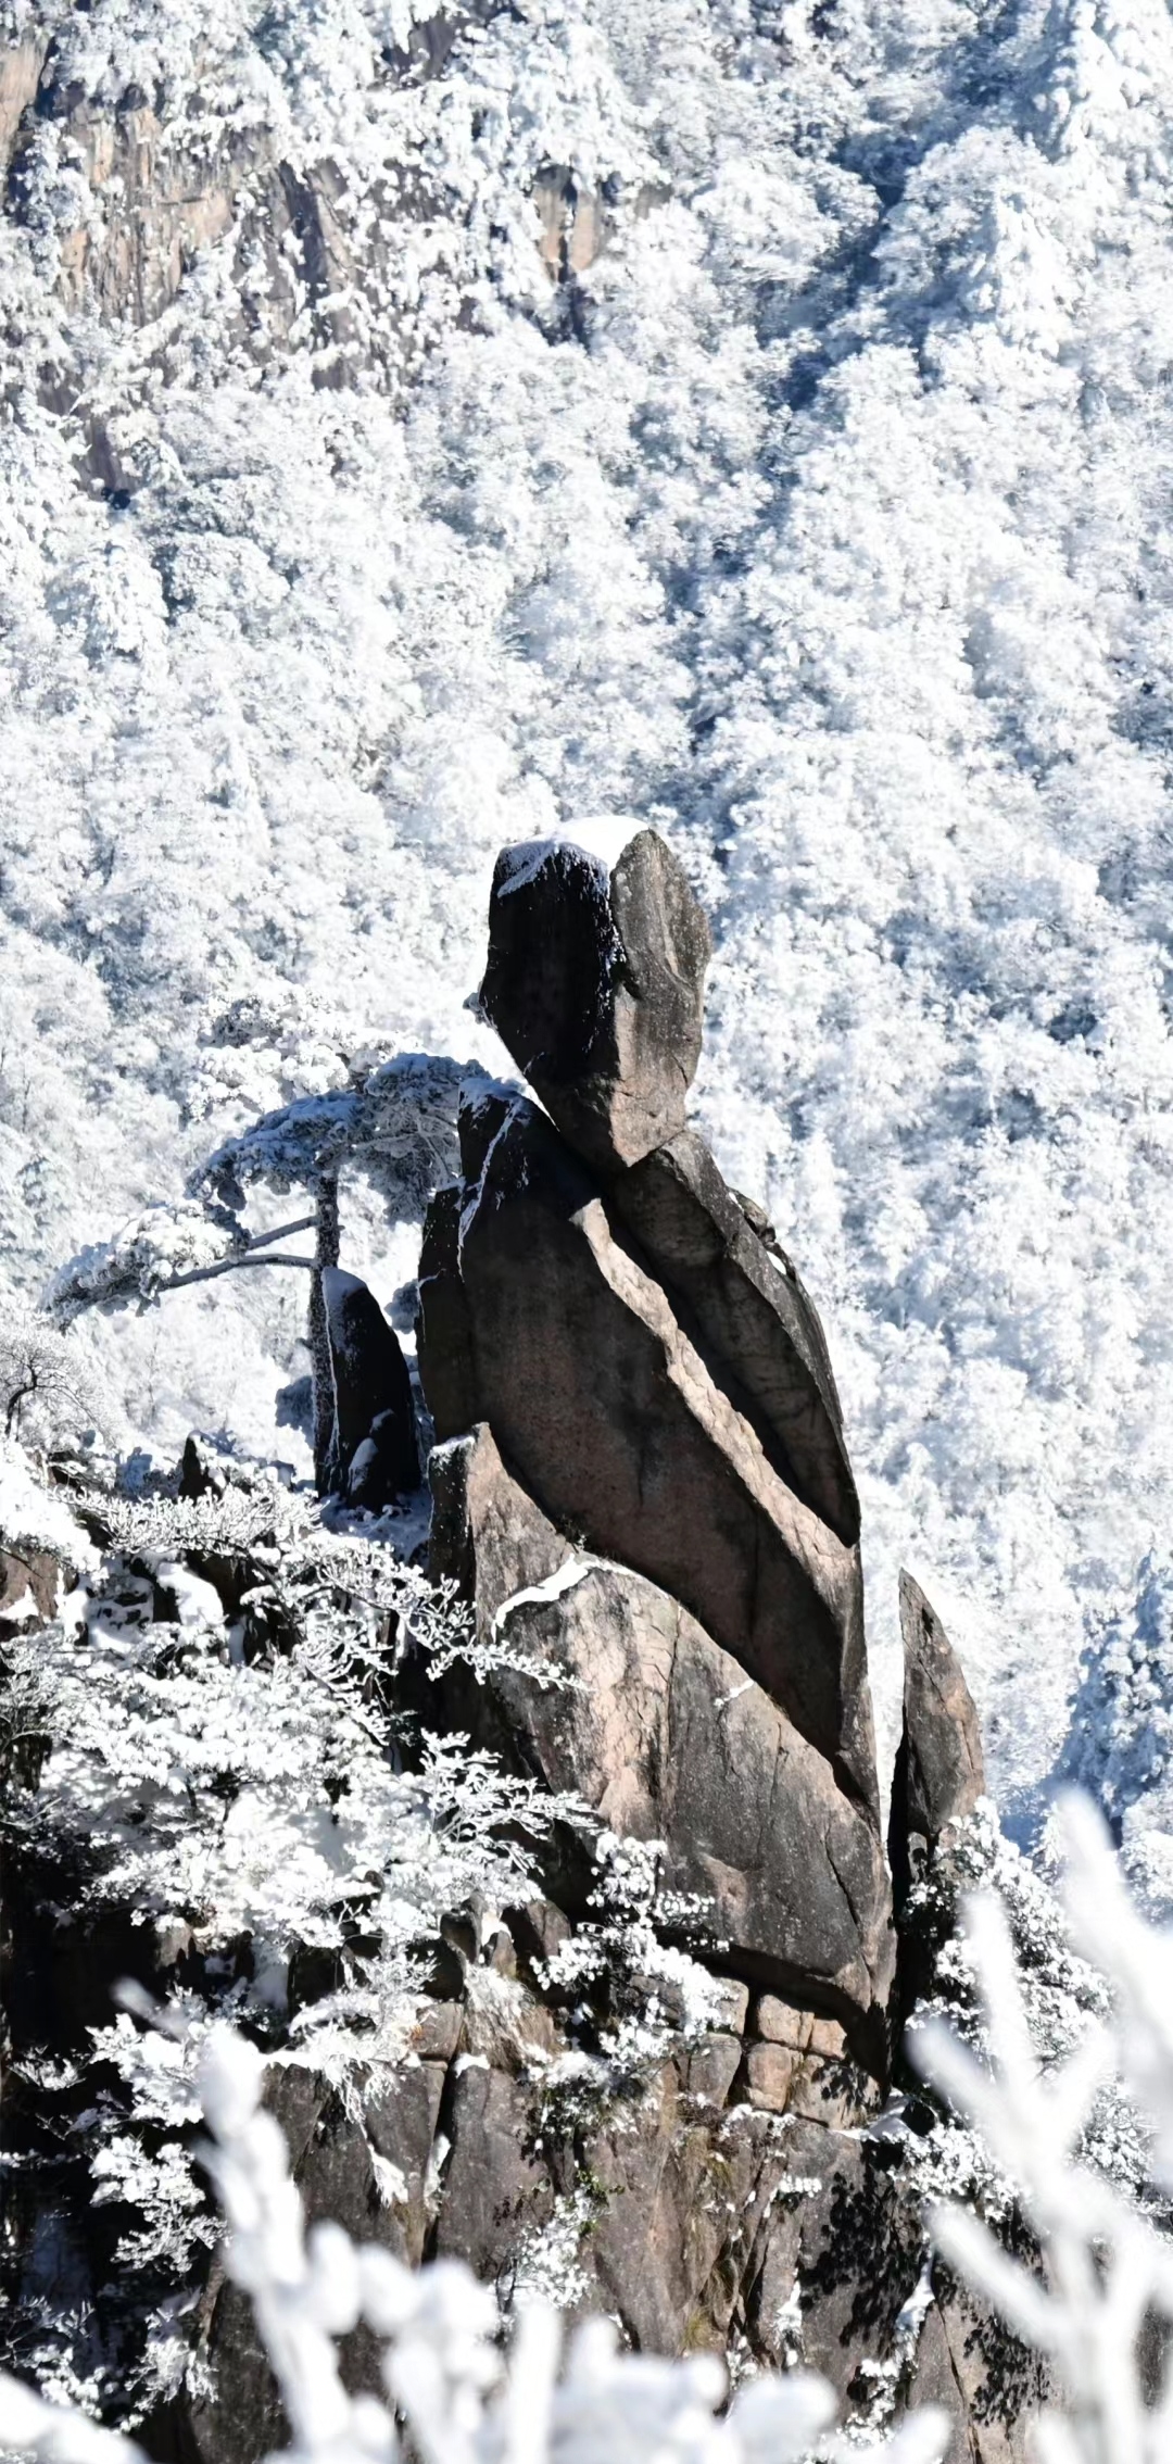
MULTIPOLYGON (((766 1249, 692 1129, 611 1185, 611 1202, 695 1321, 695 1343, 774 1471, 853 1547, 860 1501, 818 1311, 766 1249)), ((757 1215, 761 1210, 754 1210, 757 1215)), ((764 1217, 761 1217, 764 1222, 764 1217)), ((769 1225, 766 1225, 769 1230, 769 1225)))

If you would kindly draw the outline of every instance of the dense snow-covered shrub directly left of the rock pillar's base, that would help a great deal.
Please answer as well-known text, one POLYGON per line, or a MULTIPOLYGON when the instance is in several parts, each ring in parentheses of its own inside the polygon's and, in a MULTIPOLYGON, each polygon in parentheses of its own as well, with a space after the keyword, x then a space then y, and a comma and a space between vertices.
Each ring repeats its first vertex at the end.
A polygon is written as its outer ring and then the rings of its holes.
POLYGON ((7 1646, 49 1732, 7 1821, 42 1853, 84 1853, 79 1907, 133 1907, 195 1954, 249 1937, 259 2013, 283 2006, 293 1944, 345 1951, 362 1912, 380 1988, 345 1956, 333 2018, 382 2043, 397 1991, 412 2008, 409 1944, 471 1890, 515 1895, 522 1841, 562 1806, 463 1737, 412 1747, 394 1715, 407 1634, 424 1658, 458 1653, 468 1611, 276 1478, 99 1503, 101 1570, 57 1626, 7 1646))

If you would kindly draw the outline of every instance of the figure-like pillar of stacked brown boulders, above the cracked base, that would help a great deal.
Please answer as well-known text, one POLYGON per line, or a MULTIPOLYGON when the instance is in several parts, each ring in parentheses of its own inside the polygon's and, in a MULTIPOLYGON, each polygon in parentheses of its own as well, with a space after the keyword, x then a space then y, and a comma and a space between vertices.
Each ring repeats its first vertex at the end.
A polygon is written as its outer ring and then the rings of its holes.
POLYGON ((577 1685, 510 1668, 451 1717, 663 1838, 734 1974, 882 2075, 858 1498, 816 1308, 685 1124, 707 954, 651 830, 498 860, 481 1005, 552 1119, 473 1089, 429 1210, 434 1565, 577 1685))

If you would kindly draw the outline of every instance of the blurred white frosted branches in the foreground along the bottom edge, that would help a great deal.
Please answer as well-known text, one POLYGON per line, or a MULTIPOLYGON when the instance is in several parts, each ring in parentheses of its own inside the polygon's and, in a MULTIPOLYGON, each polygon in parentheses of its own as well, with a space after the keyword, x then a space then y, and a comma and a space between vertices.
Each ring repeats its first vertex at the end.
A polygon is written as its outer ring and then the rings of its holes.
MULTIPOLYGON (((1079 2139, 1114 2070, 1146 2114, 1153 2176, 1173 2156, 1171 1942, 1129 1905, 1114 1855, 1087 1806, 1067 1814, 1065 1902, 1104 2016, 1060 2062, 1040 2060, 1020 1966, 996 1895, 971 1902, 968 1942, 988 2060, 941 2023, 922 2043, 939 2092, 983 2134, 1018 2186, 1042 2269, 1015 2262, 964 2208, 941 2205, 932 2235, 949 2262, 1047 2358, 1062 2410, 1035 2427, 1047 2464, 1161 2464, 1168 2395, 1146 2388, 1141 2336, 1173 2321, 1168 2237, 1089 2171, 1079 2139)), ((261 2055, 224 2028, 197 2050, 205 2163, 227 2218, 227 2269, 249 2294, 303 2459, 421 2454, 429 2464, 786 2464, 811 2454, 835 2397, 806 2370, 759 2375, 717 2410, 727 2380, 715 2356, 653 2361, 616 2348, 594 2319, 564 2346, 559 2319, 518 2301, 513 2336, 498 2306, 453 2262, 412 2274, 387 2250, 355 2247, 338 2225, 306 2235, 281 2129, 259 2107, 261 2055), (335 2341, 365 2321, 382 2343, 387 2400, 347 2395, 335 2341), (402 2427, 397 2427, 402 2425, 402 2427)), ((138 2452, 79 2412, 0 2380, 0 2442, 49 2464, 136 2464, 138 2452)), ((936 2464, 949 2425, 927 2407, 870 2444, 892 2464, 936 2464)), ((821 2452, 833 2452, 821 2447, 821 2452)))

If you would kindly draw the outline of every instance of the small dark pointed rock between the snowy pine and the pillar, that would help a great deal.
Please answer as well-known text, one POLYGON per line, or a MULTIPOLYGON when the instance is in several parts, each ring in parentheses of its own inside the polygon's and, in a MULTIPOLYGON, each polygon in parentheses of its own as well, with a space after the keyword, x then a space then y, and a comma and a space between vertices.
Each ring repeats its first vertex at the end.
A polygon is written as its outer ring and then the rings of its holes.
POLYGON ((394 1328, 357 1274, 323 1269, 335 1400, 333 1478, 377 1513, 419 1486, 412 1380, 394 1328))

